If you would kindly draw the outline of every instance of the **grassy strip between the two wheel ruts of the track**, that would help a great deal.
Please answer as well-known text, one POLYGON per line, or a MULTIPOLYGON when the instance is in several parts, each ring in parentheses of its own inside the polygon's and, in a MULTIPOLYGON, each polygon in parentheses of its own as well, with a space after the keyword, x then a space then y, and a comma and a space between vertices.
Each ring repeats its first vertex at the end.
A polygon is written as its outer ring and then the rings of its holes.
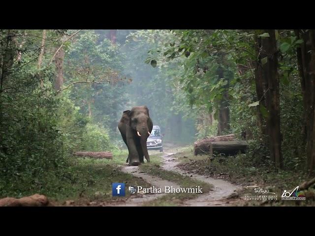
MULTIPOLYGON (((173 171, 163 170, 157 164, 146 163, 141 165, 140 169, 149 175, 175 182, 182 188, 193 188, 195 186, 200 186, 203 193, 207 193, 212 189, 212 186, 208 183, 183 176, 173 171)), ((195 193, 169 193, 156 200, 145 203, 144 206, 179 206, 182 201, 196 198, 198 196, 199 195, 195 193)))

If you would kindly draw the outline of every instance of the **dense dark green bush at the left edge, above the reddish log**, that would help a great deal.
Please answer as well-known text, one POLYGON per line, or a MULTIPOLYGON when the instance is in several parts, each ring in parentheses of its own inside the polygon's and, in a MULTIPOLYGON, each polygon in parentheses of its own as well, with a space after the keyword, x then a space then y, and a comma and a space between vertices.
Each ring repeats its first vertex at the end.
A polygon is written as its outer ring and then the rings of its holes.
POLYGON ((57 126, 59 99, 49 90, 35 89, 3 93, 0 100, 0 195, 19 195, 40 188, 47 173, 59 176, 67 166, 64 137, 57 126))

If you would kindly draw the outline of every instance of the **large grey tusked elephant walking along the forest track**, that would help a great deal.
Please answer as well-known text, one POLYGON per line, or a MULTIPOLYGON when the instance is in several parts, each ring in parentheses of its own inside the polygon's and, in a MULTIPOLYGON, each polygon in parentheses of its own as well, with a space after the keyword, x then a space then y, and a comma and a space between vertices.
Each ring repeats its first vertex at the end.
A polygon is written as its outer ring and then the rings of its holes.
POLYGON ((147 106, 133 107, 123 112, 118 123, 118 129, 128 148, 129 166, 138 166, 144 163, 144 158, 150 162, 147 149, 147 139, 152 132, 153 122, 149 115, 147 106))

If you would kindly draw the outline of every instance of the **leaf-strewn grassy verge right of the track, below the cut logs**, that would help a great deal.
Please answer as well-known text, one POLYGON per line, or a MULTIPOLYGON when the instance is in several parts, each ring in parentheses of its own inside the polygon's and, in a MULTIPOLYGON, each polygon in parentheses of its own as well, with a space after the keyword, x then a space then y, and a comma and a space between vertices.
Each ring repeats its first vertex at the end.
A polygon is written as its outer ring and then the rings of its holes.
MULTIPOLYGON (((304 173, 297 173, 289 170, 278 170, 269 164, 260 164, 258 167, 252 165, 252 158, 246 154, 224 157, 216 156, 210 160, 207 155, 194 156, 190 147, 183 148, 181 152, 174 155, 181 162, 180 168, 195 172, 204 176, 224 178, 232 183, 244 185, 240 191, 240 197, 246 194, 253 194, 249 185, 260 186, 263 189, 270 189, 278 196, 278 201, 270 201, 272 206, 310 206, 314 205, 314 190, 305 192, 307 201, 282 201, 281 195, 286 190, 294 189, 307 179, 304 173)), ((248 201, 246 205, 258 205, 259 201, 248 201)))

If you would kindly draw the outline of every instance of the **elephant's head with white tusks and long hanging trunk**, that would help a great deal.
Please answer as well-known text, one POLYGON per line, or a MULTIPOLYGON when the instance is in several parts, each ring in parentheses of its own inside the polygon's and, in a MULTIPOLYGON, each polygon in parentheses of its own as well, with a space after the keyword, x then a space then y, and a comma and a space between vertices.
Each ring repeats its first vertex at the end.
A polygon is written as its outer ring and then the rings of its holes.
POLYGON ((133 107, 129 113, 129 126, 134 135, 140 140, 143 154, 147 161, 150 161, 147 139, 152 131, 152 120, 149 116, 149 109, 146 106, 133 107))

